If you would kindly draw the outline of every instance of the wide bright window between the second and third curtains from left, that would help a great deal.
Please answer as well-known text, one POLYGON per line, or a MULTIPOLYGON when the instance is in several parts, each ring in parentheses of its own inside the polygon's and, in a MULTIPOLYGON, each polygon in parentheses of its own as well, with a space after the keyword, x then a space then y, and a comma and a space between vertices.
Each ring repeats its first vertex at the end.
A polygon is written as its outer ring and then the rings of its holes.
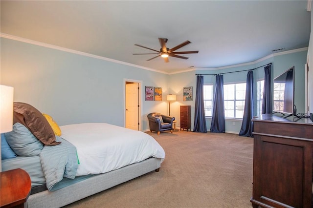
POLYGON ((246 83, 224 84, 225 118, 243 118, 246 83))

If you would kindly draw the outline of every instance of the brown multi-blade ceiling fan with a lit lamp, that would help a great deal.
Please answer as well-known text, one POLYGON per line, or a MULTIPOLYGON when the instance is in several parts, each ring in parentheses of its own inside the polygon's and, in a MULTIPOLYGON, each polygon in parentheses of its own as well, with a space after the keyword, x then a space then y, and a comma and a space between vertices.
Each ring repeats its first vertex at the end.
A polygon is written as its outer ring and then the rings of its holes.
POLYGON ((191 43, 190 41, 185 41, 183 43, 180 43, 179 45, 177 45, 177 46, 175 46, 174 48, 171 48, 171 49, 166 47, 166 44, 165 44, 167 42, 166 38, 158 38, 158 41, 160 42, 160 45, 161 45, 161 48, 160 48, 159 51, 155 50, 155 49, 152 49, 152 48, 148 48, 148 47, 142 46, 142 45, 135 44, 136 46, 139 46, 139 47, 142 47, 142 48, 146 48, 146 49, 149 49, 149 50, 153 50, 153 51, 155 51, 157 53, 133 53, 133 55, 157 54, 157 56, 155 56, 155 57, 153 57, 151 59, 148 59, 147 61, 153 60, 156 57, 161 56, 162 58, 164 58, 165 62, 169 62, 169 60, 168 60, 169 56, 175 57, 175 58, 179 58, 179 59, 188 59, 188 57, 178 56, 177 54, 188 54, 188 53, 198 53, 199 52, 199 51, 179 51, 179 52, 175 52, 177 49, 181 48, 182 46, 185 46, 185 45, 191 43))

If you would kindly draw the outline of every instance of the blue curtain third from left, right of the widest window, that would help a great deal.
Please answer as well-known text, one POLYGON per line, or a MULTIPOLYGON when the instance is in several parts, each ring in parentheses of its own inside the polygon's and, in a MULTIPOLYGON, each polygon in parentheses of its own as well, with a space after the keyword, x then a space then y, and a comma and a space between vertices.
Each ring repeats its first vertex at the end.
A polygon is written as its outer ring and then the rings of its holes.
POLYGON ((253 137, 253 122, 251 121, 254 116, 253 95, 253 71, 248 71, 248 74, 246 75, 246 100, 244 117, 239 136, 253 137))

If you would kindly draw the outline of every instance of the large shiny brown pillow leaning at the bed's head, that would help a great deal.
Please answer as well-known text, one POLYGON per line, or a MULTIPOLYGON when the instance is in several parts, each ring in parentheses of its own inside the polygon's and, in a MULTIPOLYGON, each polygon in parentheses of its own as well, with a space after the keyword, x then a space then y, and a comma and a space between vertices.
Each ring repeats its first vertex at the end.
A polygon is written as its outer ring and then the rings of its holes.
POLYGON ((55 134, 44 115, 30 104, 13 104, 13 125, 15 123, 26 126, 45 145, 61 143, 55 141, 55 134))

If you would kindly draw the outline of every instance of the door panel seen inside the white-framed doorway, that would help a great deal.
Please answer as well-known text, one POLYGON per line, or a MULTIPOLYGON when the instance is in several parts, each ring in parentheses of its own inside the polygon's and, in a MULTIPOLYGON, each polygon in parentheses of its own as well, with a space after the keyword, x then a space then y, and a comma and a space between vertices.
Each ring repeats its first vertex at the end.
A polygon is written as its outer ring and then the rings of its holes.
POLYGON ((126 83, 126 128, 139 130, 139 83, 126 83))

